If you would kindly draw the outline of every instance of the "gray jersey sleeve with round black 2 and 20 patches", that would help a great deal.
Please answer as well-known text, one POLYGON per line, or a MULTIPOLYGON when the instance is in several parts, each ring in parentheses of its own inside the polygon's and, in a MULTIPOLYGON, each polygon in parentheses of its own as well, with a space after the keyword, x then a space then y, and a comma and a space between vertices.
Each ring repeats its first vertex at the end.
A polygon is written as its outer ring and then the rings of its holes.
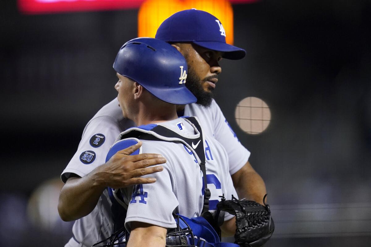
POLYGON ((66 183, 70 176, 83 177, 105 163, 106 155, 121 133, 117 120, 108 116, 92 119, 85 127, 79 147, 61 174, 66 183))

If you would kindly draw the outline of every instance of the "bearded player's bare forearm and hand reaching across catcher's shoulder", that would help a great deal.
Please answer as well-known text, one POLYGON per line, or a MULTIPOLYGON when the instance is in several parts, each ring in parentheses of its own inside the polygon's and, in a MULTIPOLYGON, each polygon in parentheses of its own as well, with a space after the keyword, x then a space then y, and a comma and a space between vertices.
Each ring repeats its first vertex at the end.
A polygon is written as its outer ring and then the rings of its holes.
POLYGON ((76 220, 91 213, 106 187, 154 183, 155 178, 141 176, 162 171, 162 166, 155 165, 166 163, 166 159, 159 154, 130 155, 141 145, 139 142, 117 151, 84 177, 69 178, 59 194, 58 212, 62 220, 76 220))

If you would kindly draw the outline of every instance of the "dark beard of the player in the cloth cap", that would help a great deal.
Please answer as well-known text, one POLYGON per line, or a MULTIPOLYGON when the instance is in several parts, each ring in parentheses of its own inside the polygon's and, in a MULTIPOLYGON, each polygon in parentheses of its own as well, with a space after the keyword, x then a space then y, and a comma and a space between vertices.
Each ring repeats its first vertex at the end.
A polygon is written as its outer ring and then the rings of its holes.
POLYGON ((192 67, 188 66, 187 83, 185 83, 185 86, 197 98, 196 104, 204 107, 209 107, 214 97, 213 87, 209 87, 210 92, 207 92, 202 86, 203 83, 205 83, 210 78, 211 77, 207 77, 204 80, 201 80, 201 78, 197 76, 192 67))

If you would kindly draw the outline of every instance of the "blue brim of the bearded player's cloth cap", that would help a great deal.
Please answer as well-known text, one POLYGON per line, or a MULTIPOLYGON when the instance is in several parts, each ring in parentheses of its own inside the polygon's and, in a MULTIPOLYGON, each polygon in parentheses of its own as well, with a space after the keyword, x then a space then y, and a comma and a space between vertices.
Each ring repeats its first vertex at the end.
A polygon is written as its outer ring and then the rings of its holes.
POLYGON ((218 41, 192 41, 199 46, 202 46, 207 49, 214 51, 224 52, 223 58, 231 60, 243 59, 246 56, 246 51, 244 49, 232 46, 227 43, 218 42, 218 41))

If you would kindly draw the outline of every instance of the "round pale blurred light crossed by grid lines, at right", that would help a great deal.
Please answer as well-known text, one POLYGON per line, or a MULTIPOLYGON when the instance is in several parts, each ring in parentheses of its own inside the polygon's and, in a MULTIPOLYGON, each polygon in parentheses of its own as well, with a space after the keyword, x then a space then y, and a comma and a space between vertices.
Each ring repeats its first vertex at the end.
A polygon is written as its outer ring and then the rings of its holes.
POLYGON ((262 133, 270 123, 268 105, 256 97, 241 100, 234 114, 238 126, 247 134, 262 133))

